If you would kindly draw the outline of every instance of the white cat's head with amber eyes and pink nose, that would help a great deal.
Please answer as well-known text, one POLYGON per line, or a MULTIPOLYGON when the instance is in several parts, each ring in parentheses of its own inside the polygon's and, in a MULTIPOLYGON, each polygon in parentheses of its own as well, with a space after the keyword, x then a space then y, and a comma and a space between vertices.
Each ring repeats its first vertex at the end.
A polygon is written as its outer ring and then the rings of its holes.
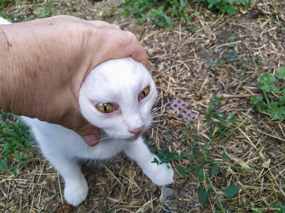
POLYGON ((150 72, 127 57, 93 68, 81 85, 79 105, 84 118, 109 136, 135 140, 150 127, 156 96, 150 72))

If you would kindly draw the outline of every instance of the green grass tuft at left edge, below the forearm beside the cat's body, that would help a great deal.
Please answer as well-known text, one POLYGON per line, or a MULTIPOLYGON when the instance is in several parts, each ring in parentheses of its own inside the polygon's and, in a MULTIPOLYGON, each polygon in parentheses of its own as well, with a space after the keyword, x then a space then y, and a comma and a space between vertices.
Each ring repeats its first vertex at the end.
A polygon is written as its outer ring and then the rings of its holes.
POLYGON ((0 159, 0 173, 6 170, 12 170, 15 176, 17 175, 17 167, 23 165, 27 168, 26 162, 32 161, 34 159, 27 160, 26 155, 20 154, 19 151, 30 151, 34 153, 34 148, 32 147, 30 140, 30 133, 26 126, 21 122, 21 120, 16 118, 15 122, 4 122, 4 118, 11 116, 11 113, 5 113, 0 110, 0 148, 2 149, 2 159, 0 159), (19 164, 8 167, 6 161, 7 157, 14 154, 19 164))

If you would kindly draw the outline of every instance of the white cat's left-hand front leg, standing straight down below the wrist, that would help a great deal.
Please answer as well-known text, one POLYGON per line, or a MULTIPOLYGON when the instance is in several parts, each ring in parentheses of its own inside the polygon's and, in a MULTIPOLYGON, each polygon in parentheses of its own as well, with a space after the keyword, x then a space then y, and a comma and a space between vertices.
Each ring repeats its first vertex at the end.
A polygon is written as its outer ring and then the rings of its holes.
POLYGON ((78 206, 87 197, 88 185, 81 168, 75 160, 69 159, 63 153, 43 153, 62 175, 65 181, 64 197, 73 206, 78 206))

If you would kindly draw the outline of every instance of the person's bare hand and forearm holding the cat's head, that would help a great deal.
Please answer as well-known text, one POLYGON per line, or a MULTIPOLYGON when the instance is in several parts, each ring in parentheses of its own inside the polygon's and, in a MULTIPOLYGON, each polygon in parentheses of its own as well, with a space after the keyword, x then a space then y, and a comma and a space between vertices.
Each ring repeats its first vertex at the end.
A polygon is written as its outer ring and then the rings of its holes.
POLYGON ((131 32, 72 16, 0 25, 0 47, 1 108, 69 128, 88 145, 100 133, 78 110, 87 74, 101 62, 127 56, 148 66, 131 32))

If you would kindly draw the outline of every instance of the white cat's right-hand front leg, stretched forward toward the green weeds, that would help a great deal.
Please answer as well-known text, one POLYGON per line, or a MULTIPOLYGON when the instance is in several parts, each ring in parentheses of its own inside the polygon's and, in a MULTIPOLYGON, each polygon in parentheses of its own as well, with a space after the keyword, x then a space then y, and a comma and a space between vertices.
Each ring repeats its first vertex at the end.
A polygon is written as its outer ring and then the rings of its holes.
POLYGON ((137 162, 143 173, 148 176, 154 184, 164 186, 173 182, 174 171, 170 163, 159 165, 152 163, 151 161, 158 157, 149 151, 141 137, 139 137, 137 141, 127 143, 124 152, 137 162))

